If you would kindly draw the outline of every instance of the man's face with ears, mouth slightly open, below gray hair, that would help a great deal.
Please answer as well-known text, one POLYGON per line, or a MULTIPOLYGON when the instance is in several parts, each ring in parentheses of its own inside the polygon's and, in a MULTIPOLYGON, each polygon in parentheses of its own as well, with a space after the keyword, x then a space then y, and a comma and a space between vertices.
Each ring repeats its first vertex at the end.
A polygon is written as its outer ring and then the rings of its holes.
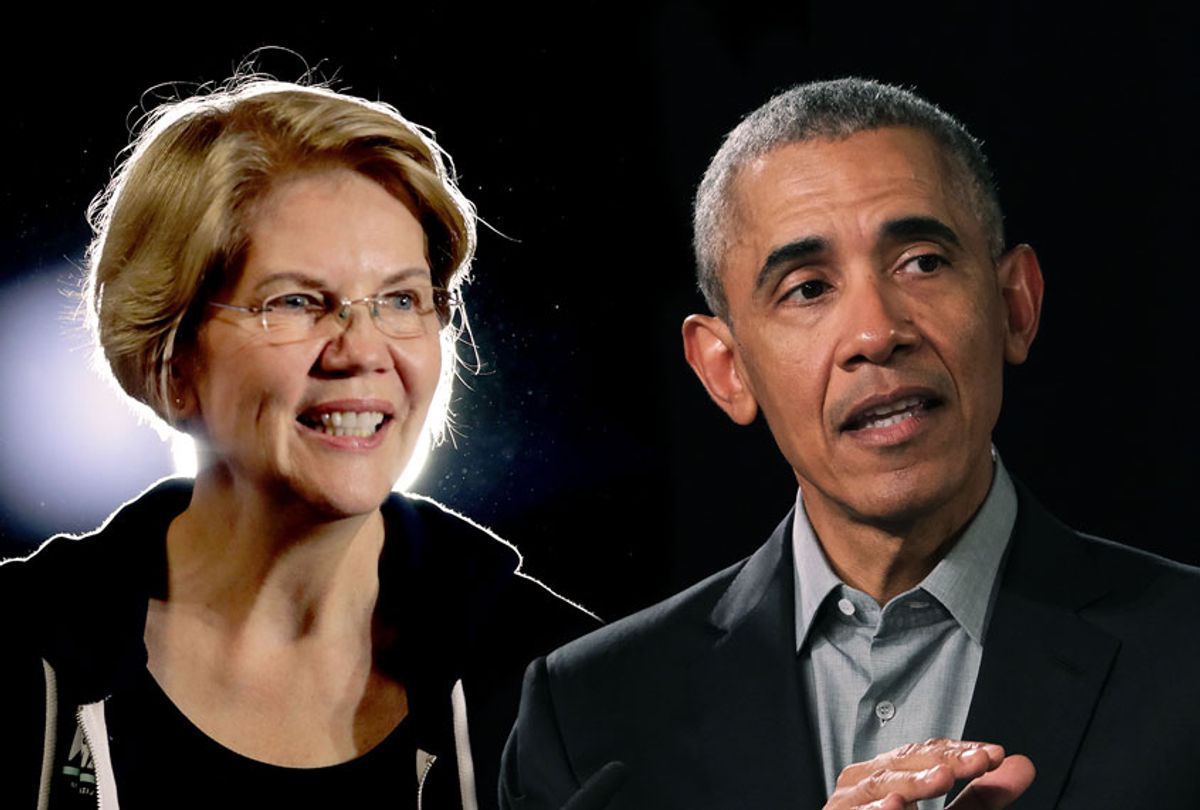
POLYGON ((730 326, 707 319, 725 382, 697 366, 710 394, 737 421, 762 409, 810 516, 900 527, 949 506, 965 522, 991 481, 1004 359, 1037 324, 1012 289, 1032 252, 990 259, 965 188, 911 128, 775 149, 734 202, 730 326))

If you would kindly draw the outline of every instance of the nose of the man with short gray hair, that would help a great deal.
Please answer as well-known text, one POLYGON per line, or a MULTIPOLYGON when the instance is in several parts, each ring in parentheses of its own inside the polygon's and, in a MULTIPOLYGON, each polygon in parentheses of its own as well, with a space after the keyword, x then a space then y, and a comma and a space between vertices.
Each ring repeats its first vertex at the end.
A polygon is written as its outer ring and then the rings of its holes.
POLYGON ((910 301, 886 280, 872 277, 852 286, 842 300, 842 341, 838 365, 886 365, 896 353, 920 344, 910 301))

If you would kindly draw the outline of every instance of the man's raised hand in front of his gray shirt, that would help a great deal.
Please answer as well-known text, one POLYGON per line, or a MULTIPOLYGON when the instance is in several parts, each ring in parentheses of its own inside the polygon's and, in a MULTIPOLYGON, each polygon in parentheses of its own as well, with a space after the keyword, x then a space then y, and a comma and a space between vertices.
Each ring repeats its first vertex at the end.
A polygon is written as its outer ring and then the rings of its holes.
POLYGON ((824 810, 910 810, 918 799, 944 796, 960 779, 972 781, 947 810, 1001 810, 1033 774, 1027 757, 1004 756, 1000 745, 931 739, 848 766, 824 810))

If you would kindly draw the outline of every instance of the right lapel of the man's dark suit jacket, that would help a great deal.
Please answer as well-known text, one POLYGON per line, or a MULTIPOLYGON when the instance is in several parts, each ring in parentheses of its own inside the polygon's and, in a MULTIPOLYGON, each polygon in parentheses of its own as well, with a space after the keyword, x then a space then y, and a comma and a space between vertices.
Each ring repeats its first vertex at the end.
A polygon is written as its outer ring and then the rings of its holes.
POLYGON ((1109 588, 1079 539, 1022 487, 1019 496, 964 738, 1028 756, 1038 775, 1020 806, 1052 806, 1118 642, 1078 614, 1109 588))

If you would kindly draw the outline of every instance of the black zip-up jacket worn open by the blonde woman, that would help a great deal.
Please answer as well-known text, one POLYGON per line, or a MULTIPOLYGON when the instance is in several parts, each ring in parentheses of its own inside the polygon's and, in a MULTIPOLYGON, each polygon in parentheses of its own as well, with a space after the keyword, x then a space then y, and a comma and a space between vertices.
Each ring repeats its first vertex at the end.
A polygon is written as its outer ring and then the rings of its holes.
MULTIPOLYGON (((55 810, 72 745, 59 730, 73 713, 97 803, 116 810, 104 700, 146 665, 146 606, 164 593, 167 527, 191 492, 188 480, 162 481, 96 532, 0 564, 0 808, 55 810)), ((420 806, 494 808, 526 665, 598 620, 523 575, 512 546, 433 502, 394 494, 383 515, 377 611, 403 636, 379 664, 408 691, 420 806)))

